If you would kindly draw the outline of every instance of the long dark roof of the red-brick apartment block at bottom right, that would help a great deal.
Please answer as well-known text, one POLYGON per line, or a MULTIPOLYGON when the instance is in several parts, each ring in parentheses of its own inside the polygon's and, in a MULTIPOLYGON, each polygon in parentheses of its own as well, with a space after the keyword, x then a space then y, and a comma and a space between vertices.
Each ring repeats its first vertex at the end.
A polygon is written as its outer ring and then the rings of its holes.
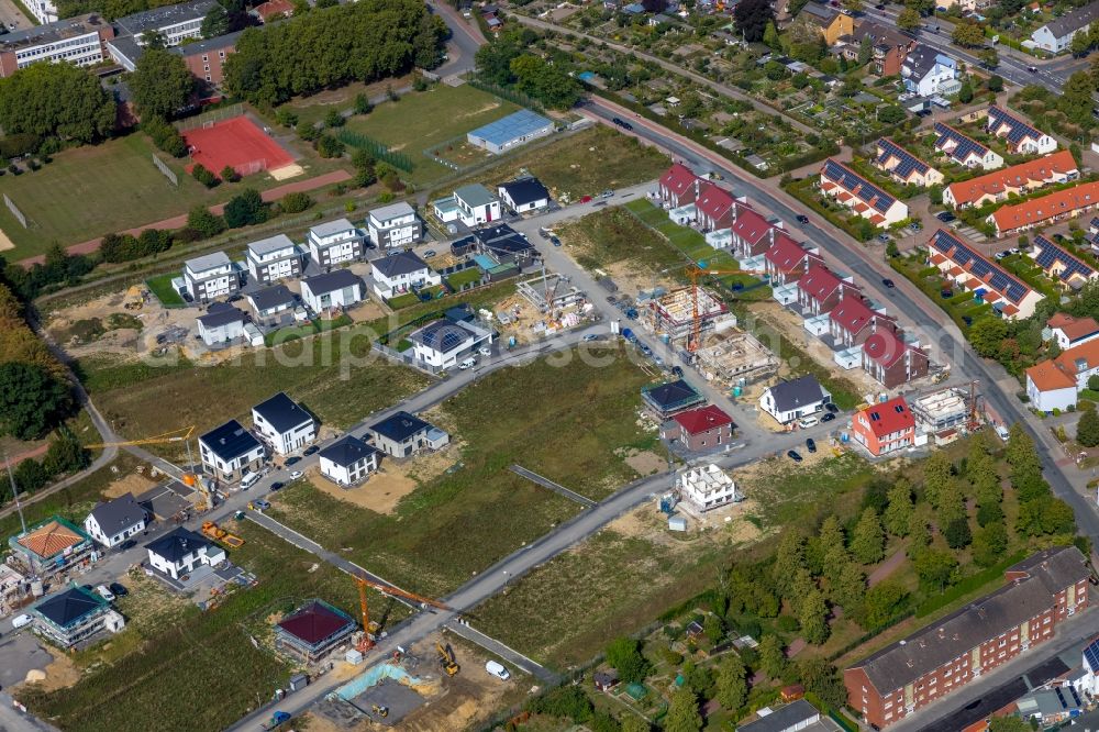
POLYGON ((880 695, 890 694, 1054 606, 1053 595, 1090 573, 1075 546, 1040 552, 1007 569, 1023 576, 990 595, 886 646, 862 668, 880 695))

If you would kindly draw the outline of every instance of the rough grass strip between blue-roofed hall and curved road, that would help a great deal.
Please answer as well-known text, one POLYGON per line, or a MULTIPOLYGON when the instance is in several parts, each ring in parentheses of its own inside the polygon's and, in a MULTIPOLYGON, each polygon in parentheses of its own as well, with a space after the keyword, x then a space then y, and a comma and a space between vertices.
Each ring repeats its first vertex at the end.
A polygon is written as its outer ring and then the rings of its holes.
POLYGON ((607 188, 622 188, 653 180, 666 170, 668 158, 633 137, 604 126, 584 130, 541 147, 519 148, 497 166, 447 182, 432 198, 449 195, 458 186, 480 182, 496 190, 502 180, 522 170, 539 177, 557 200, 576 200, 607 188))

